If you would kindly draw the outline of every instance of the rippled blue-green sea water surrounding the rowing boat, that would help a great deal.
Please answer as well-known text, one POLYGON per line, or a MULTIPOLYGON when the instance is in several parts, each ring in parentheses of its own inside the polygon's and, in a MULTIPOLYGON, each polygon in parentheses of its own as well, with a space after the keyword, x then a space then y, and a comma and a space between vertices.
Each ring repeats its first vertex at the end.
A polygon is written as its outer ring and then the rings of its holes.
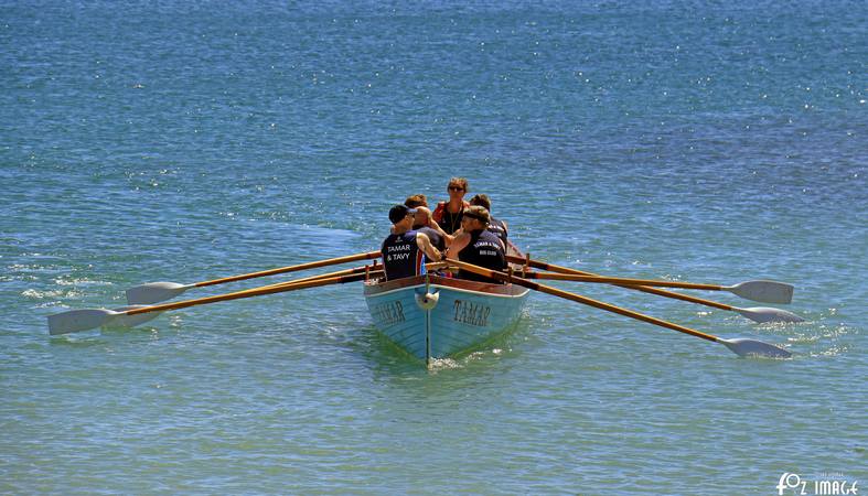
POLYGON ((0 493, 865 484, 867 26, 836 0, 2 3, 0 493), (765 325, 556 284, 794 357, 535 294, 426 370, 358 285, 47 335, 138 283, 376 249, 451 175, 534 258, 795 284, 806 322, 765 325))

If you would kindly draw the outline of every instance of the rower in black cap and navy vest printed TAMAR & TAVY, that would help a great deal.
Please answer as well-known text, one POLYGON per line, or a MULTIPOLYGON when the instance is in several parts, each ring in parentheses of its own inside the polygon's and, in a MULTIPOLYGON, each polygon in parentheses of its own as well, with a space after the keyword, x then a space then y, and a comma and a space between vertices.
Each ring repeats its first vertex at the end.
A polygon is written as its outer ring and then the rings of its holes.
POLYGON ((387 281, 424 274, 422 254, 431 261, 442 258, 442 254, 431 245, 428 236, 411 230, 415 214, 416 209, 407 208, 405 205, 395 205, 389 209, 392 234, 383 241, 381 248, 387 281))

